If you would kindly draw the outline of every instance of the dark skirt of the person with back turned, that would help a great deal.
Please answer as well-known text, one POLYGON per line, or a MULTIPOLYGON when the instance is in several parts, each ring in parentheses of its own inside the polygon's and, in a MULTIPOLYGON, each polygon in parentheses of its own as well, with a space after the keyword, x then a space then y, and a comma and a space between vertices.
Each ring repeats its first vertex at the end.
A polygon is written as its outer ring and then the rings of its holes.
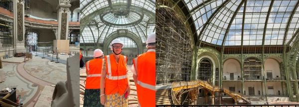
POLYGON ((104 107, 100 100, 100 89, 85 89, 83 107, 104 107))

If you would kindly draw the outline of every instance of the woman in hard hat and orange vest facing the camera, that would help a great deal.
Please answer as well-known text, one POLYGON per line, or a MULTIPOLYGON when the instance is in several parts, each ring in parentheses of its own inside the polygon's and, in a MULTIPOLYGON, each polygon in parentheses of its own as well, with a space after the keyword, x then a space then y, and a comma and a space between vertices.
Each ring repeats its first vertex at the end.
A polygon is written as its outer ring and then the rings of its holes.
POLYGON ((113 54, 105 56, 106 65, 101 78, 101 103, 105 107, 128 107, 131 87, 127 74, 128 58, 121 55, 124 43, 114 39, 110 46, 113 54))

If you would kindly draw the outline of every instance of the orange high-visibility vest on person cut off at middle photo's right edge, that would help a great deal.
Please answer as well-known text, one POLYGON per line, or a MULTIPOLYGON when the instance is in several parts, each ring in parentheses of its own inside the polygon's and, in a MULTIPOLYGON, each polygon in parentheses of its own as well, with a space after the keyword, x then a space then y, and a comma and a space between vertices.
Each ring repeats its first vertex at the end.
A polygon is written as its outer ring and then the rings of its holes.
POLYGON ((155 52, 148 51, 133 60, 137 75, 139 107, 155 107, 155 52))

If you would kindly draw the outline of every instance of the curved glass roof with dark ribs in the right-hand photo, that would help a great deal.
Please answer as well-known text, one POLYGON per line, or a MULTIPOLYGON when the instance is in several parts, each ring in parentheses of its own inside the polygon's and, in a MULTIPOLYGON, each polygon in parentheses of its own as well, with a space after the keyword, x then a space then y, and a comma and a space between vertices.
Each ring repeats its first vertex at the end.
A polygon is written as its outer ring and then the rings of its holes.
POLYGON ((221 46, 263 45, 263 38, 264 45, 292 46, 298 1, 184 0, 200 40, 221 46))

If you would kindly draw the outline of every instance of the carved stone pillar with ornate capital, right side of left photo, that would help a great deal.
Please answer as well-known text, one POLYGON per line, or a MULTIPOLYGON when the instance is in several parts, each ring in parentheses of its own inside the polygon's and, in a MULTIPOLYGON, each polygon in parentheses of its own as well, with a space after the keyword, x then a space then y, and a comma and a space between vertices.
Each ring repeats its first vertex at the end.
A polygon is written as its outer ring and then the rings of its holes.
POLYGON ((57 40, 68 40, 68 24, 69 24, 69 12, 70 12, 70 1, 59 0, 57 7, 57 21, 58 21, 58 37, 57 40))

